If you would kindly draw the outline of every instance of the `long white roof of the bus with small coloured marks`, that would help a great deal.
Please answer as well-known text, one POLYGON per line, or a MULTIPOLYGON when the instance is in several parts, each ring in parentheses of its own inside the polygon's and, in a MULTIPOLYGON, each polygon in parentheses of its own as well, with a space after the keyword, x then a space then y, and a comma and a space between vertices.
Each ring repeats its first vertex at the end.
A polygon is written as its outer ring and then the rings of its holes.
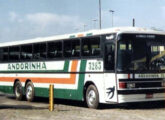
POLYGON ((101 30, 99 30, 99 29, 98 30, 89 30, 86 32, 79 32, 79 33, 72 33, 72 34, 65 34, 65 35, 38 37, 38 38, 28 39, 28 40, 4 42, 4 43, 0 44, 0 47, 39 43, 39 42, 46 42, 46 41, 55 41, 55 40, 64 40, 64 39, 69 39, 69 38, 80 38, 80 37, 87 37, 87 36, 94 36, 94 35, 104 35, 104 34, 111 34, 111 33, 118 33, 118 34, 119 33, 139 33, 139 34, 141 33, 141 34, 165 35, 164 31, 157 31, 157 30, 146 29, 146 28, 115 27, 115 28, 108 28, 108 29, 101 29, 101 30))

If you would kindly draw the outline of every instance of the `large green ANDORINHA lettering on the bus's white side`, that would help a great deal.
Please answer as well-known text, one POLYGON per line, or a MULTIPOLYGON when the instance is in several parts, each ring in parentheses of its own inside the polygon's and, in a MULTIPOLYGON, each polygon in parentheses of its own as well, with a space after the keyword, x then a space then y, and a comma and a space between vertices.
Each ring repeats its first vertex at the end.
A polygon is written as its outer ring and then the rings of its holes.
POLYGON ((45 62, 10 63, 8 70, 46 70, 45 62))

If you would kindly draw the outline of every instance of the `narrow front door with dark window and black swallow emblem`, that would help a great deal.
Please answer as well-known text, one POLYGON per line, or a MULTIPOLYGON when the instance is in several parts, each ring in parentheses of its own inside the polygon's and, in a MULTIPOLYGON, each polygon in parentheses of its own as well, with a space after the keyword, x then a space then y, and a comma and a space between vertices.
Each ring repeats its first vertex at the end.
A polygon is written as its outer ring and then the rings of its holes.
POLYGON ((117 83, 115 75, 115 44, 104 45, 104 93, 106 102, 117 102, 117 83))

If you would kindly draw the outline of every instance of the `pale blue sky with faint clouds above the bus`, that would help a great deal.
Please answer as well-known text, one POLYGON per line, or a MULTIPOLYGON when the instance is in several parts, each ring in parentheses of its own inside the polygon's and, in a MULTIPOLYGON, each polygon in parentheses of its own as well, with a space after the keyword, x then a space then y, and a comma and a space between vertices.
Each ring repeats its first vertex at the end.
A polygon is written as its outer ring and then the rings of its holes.
MULTIPOLYGON (((99 0, 0 0, 0 42, 99 28, 99 0), (94 20, 97 21, 94 21, 94 20)), ((165 30, 165 0, 101 0, 102 28, 165 30)))

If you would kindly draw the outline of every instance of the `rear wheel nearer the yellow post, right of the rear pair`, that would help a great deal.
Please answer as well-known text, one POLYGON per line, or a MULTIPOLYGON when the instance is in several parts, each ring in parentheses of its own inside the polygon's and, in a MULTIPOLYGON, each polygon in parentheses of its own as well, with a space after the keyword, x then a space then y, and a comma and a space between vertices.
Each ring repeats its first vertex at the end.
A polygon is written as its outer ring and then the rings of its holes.
POLYGON ((34 85, 32 82, 28 82, 25 89, 26 100, 29 102, 34 101, 34 85))

